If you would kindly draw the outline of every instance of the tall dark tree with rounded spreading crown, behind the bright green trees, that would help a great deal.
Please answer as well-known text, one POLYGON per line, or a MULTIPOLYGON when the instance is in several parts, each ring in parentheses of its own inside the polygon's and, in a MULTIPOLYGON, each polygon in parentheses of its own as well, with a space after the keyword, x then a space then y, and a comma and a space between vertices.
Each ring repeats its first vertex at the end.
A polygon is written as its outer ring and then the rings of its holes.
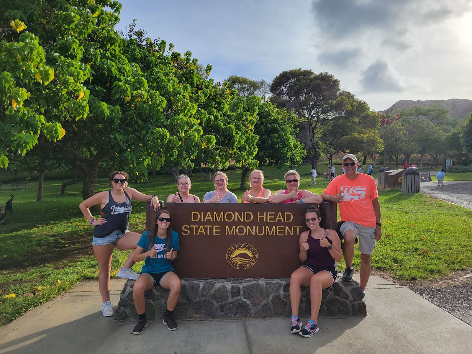
POLYGON ((299 117, 300 140, 307 156, 316 168, 320 157, 318 143, 332 139, 321 135, 321 127, 342 109, 344 100, 339 99, 340 82, 329 73, 313 73, 311 70, 283 71, 270 86, 270 101, 278 108, 294 110, 299 117))

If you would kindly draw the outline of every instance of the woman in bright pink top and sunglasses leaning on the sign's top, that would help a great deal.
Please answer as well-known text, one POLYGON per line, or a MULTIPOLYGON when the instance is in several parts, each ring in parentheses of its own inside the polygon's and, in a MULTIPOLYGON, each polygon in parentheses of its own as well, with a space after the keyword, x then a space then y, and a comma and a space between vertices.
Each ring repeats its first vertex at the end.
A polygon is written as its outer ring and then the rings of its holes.
POLYGON ((272 204, 280 203, 309 203, 309 204, 321 204, 323 199, 315 193, 307 191, 305 189, 299 191, 300 186, 300 175, 295 170, 290 170, 285 174, 285 183, 287 189, 279 189, 277 192, 269 197, 269 202, 272 204))

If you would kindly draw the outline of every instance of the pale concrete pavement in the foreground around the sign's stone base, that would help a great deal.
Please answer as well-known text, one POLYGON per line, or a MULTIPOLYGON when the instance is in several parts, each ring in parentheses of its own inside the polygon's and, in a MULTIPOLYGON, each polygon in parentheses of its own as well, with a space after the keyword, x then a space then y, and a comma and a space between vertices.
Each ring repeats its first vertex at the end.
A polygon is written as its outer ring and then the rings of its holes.
MULTIPOLYGON (((124 283, 112 279, 114 309, 124 283)), ((135 323, 117 325, 101 315, 97 282, 85 281, 1 328, 0 353, 472 352, 471 326, 406 287, 372 276, 366 303, 367 317, 320 318, 311 338, 291 334, 288 318, 179 321, 177 331, 156 321, 136 336, 135 323)))

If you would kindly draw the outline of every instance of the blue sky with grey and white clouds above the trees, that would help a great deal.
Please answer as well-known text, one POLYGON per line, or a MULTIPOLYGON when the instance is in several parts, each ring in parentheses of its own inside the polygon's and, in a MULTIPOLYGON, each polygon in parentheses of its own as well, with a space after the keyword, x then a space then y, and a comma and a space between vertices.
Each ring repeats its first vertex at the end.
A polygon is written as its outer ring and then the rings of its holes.
POLYGON ((191 51, 211 76, 269 83, 284 70, 328 71, 385 110, 398 100, 472 99, 469 0, 122 0, 152 39, 191 51))

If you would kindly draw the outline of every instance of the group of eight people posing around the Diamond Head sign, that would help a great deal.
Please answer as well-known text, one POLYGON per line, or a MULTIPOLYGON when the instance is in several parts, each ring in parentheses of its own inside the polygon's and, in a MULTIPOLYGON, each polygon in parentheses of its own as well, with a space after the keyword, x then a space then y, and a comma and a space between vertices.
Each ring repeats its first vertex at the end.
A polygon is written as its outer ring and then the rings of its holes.
MULTIPOLYGON (((361 287, 365 289, 371 273, 371 254, 376 240, 381 237, 380 206, 377 186, 371 176, 359 174, 358 162, 354 155, 343 158, 346 174, 330 181, 321 194, 299 190, 300 175, 295 170, 285 174, 287 189, 280 189, 271 194, 263 188, 264 175, 261 170, 253 170, 249 180, 251 189, 244 192, 242 203, 307 203, 320 204, 323 200, 339 204, 342 225, 340 231, 320 227, 321 215, 317 208, 310 207, 305 212, 305 224, 308 228, 299 236, 299 259, 303 266, 294 271, 290 279, 290 302, 292 306, 292 333, 311 337, 318 331, 318 312, 320 310, 322 290, 329 289, 337 277, 336 264, 344 256, 346 270, 343 280, 351 281, 354 269, 352 260, 354 244, 359 242, 361 252, 361 287), (344 243, 341 246, 341 240, 344 243), (305 326, 298 317, 301 286, 310 286, 311 316, 305 326)), ((112 189, 99 192, 84 200, 80 209, 93 226, 93 251, 99 266, 99 289, 103 300, 102 313, 113 316, 110 302, 110 269, 113 248, 133 250, 118 271, 118 277, 134 279, 133 297, 138 314, 138 323, 134 334, 141 334, 147 326, 144 292, 154 286, 169 289, 167 309, 163 323, 169 330, 177 329, 173 311, 180 296, 180 278, 174 272, 172 261, 177 259, 179 236, 172 230, 172 218, 169 211, 160 208, 157 195, 143 194, 135 188, 127 187, 128 175, 116 171, 110 175, 112 189), (131 212, 131 200, 151 201, 157 212, 151 230, 142 235, 129 231, 128 219, 131 212), (95 219, 90 211, 93 205, 100 204, 101 216, 95 219), (144 266, 138 275, 131 270, 135 262, 143 261, 144 266)), ((213 177, 215 190, 203 196, 204 203, 237 203, 236 195, 228 190, 228 176, 217 171, 213 177)), ((170 194, 167 202, 198 203, 200 198, 190 193, 191 180, 186 175, 177 178, 177 192, 170 194)))

